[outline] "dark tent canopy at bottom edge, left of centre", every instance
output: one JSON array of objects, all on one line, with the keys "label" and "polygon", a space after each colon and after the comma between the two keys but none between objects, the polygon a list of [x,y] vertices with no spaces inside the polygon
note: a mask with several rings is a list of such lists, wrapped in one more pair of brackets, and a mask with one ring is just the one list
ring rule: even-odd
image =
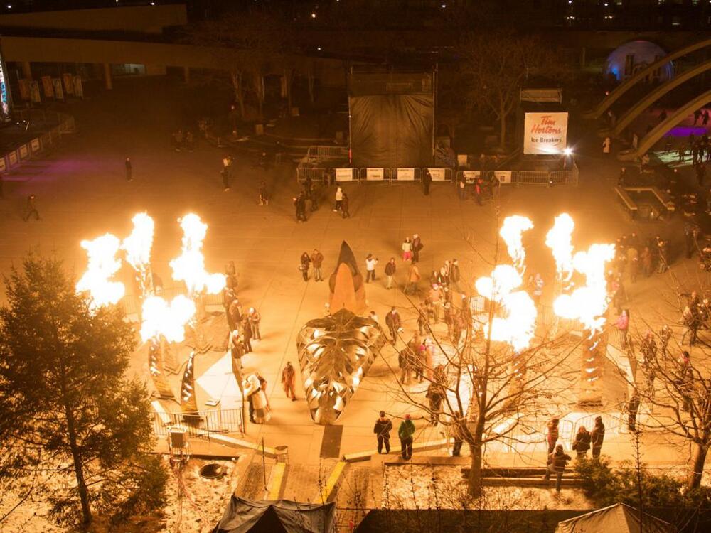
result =
[{"label": "dark tent canopy at bottom edge, left of centre", "polygon": [[331,533],[336,504],[311,505],[289,500],[245,500],[232,496],[213,533]]}]

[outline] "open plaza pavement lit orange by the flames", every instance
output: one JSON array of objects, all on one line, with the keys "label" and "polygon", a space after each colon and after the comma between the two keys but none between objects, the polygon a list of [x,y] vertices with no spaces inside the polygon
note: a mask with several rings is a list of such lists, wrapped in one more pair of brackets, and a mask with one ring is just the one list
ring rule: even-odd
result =
[{"label": "open plaza pavement lit orange by the flames", "polygon": [[[343,220],[332,212],[335,189],[330,188],[323,191],[321,208],[309,215],[309,221],[296,223],[293,166],[286,163],[267,173],[236,156],[232,189],[224,192],[219,177],[223,150],[202,143],[191,154],[171,151],[169,134],[179,124],[174,112],[178,106],[170,84],[156,80],[117,82],[114,92],[74,104],[70,112],[77,118],[79,133],[68,137],[63,149],[49,158],[33,161],[6,177],[6,198],[0,200],[0,273],[7,274],[29,249],[37,249],[43,254],[56,254],[80,274],[86,264],[81,239],[105,232],[124,237],[131,229],[132,215],[146,210],[156,221],[154,270],[170,286],[168,262],[180,253],[181,244],[176,219],[196,212],[209,225],[203,248],[208,270],[223,271],[225,263],[234,260],[240,301],[245,308],[254,306],[262,314],[263,340],[255,343],[255,352],[245,357],[245,367],[247,371],[258,370],[267,379],[272,419],[264,425],[248,424],[247,438],[254,442],[264,438],[267,446],[288,445],[289,460],[296,465],[315,468],[322,463],[324,427],[311,422],[299,378],[296,391],[300,399],[290,402],[284,397],[279,376],[287,360],[297,365],[296,334],[306,321],[324,315],[328,300],[327,282],[304,283],[301,279],[301,252],[321,250],[326,258],[325,274],[334,268],[343,239],[351,244],[363,267],[366,254],[373,253],[380,265],[378,280],[366,286],[368,306],[381,320],[390,306],[400,308],[405,330],[410,333],[416,327],[415,316],[403,311],[407,300],[402,291],[385,289],[382,273],[387,259],[395,257],[396,279],[400,286],[403,284],[406,265],[399,259],[400,244],[413,233],[419,233],[424,243],[420,263],[423,286],[429,271],[445,259],[456,257],[464,283],[471,287],[476,277],[491,270],[497,220],[514,213],[529,216],[535,228],[524,239],[528,269],[540,271],[547,281],[546,300],[550,298],[555,266],[543,243],[558,213],[569,212],[574,218],[574,244],[579,248],[587,248],[592,242],[614,242],[622,233],[631,231],[643,236],[680,235],[683,224],[678,219],[670,224],[630,222],[611,194],[619,173],[618,163],[601,157],[594,137],[584,139],[577,148],[577,188],[504,187],[496,205],[486,203],[479,207],[473,200],[460,202],[454,188],[444,183],[434,184],[429,196],[424,196],[415,183],[346,185],[351,198],[350,219]],[[134,168],[130,183],[124,179],[126,156],[132,158]],[[257,205],[257,185],[262,178],[267,180],[272,195],[269,206]],[[39,222],[23,222],[21,218],[30,193],[37,195],[42,217]],[[677,252],[679,240],[676,239]],[[696,271],[692,260],[677,259],[675,272],[683,279],[693,279]],[[120,274],[119,279],[129,289],[129,267],[124,265]],[[659,300],[660,290],[667,289],[670,281],[659,276],[629,287],[633,321],[637,311],[650,320],[657,311],[670,313]],[[4,295],[0,296],[4,299]],[[224,328],[226,333],[226,325]],[[198,356],[196,375],[207,371],[222,355],[209,352]],[[395,365],[394,352],[387,352],[385,358]],[[145,351],[139,350],[132,360],[132,372],[147,379],[147,370]],[[392,379],[385,360],[378,360],[371,367],[339,421],[343,425],[341,454],[373,448],[373,421],[380,409],[395,417],[413,411],[388,392]],[[177,387],[175,383],[173,386]],[[201,408],[210,395],[198,387]],[[418,424],[418,441],[440,437],[439,429]],[[670,463],[668,451],[672,448],[667,446],[665,437],[644,438],[646,462]],[[396,434],[392,441],[397,448]],[[616,459],[631,458],[629,436],[610,432],[605,451]],[[513,465],[540,464],[544,456],[542,446],[525,455],[491,446],[486,458],[492,464]],[[680,454],[673,456],[671,462],[684,461]],[[310,500],[312,496],[307,494],[301,499]]]}]

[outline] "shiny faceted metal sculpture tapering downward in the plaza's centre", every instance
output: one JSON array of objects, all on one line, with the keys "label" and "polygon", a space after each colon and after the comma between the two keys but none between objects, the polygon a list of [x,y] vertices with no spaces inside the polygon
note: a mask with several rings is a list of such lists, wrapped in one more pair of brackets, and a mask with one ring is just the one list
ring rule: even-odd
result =
[{"label": "shiny faceted metal sculpture tapering downward in the plaza's centre", "polygon": [[333,424],[385,344],[378,323],[341,309],[301,328],[296,339],[306,402],[316,424]]}]

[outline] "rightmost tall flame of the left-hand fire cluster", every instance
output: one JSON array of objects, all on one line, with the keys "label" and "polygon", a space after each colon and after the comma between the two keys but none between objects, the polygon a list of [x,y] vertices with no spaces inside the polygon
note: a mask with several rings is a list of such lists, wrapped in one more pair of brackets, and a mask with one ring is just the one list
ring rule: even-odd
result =
[{"label": "rightmost tall flame of the left-hand fire cluster", "polygon": [[205,271],[205,257],[201,249],[208,225],[198,215],[190,213],[178,219],[183,228],[183,253],[170,262],[173,279],[185,281],[188,294],[194,295],[203,290],[208,294],[217,294],[226,283],[224,274],[208,274]]}]

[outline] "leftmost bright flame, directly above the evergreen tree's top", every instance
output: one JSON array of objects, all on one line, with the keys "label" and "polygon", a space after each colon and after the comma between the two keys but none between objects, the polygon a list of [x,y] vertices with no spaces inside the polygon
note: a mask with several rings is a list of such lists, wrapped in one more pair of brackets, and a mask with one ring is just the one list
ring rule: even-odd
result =
[{"label": "leftmost bright flame, directly above the evergreen tree's top", "polygon": [[120,244],[118,237],[110,233],[81,242],[82,248],[89,256],[89,264],[87,271],[77,282],[77,292],[90,292],[92,308],[118,303],[124,296],[124,284],[109,281],[121,268],[121,260],[116,259]]}]

